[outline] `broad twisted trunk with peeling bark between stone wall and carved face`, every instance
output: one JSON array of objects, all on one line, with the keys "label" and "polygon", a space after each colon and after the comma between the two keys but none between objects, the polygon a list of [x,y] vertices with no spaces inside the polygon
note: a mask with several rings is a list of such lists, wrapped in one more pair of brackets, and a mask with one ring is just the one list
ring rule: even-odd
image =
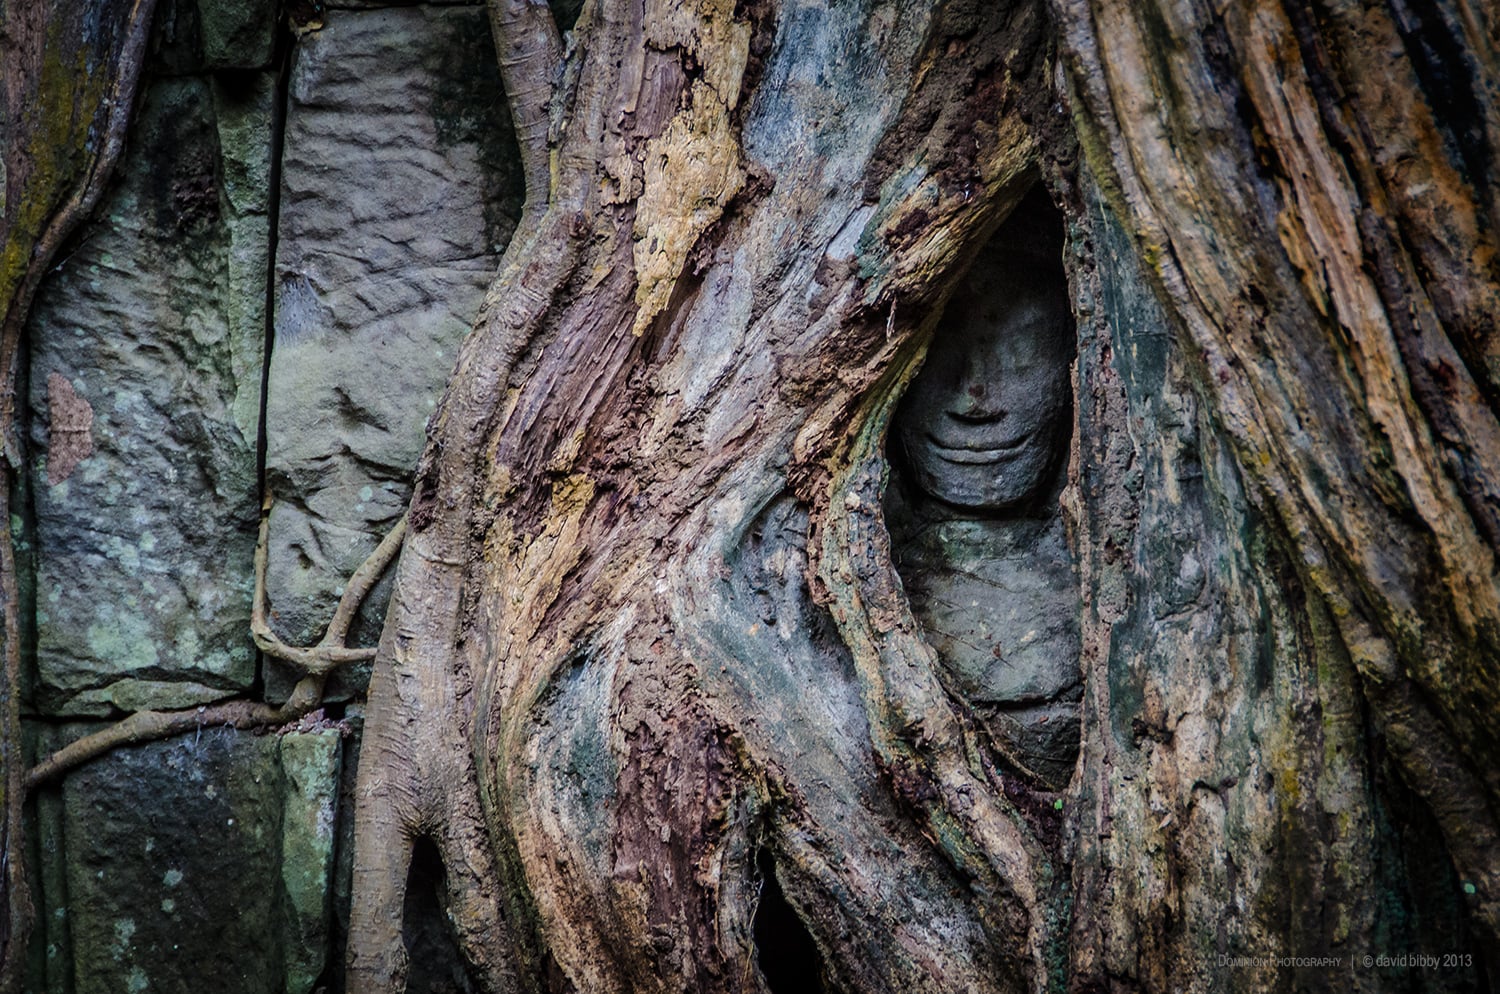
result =
[{"label": "broad twisted trunk with peeling bark between stone wall and carved face", "polygon": [[[362,759],[358,990],[402,990],[418,837],[486,990],[543,987],[548,961],[591,991],[759,987],[759,852],[843,987],[1040,982],[1042,847],[1002,786],[942,751],[962,748],[951,700],[892,700],[910,688],[855,645],[861,676],[826,676],[870,708],[879,762],[855,741],[850,787],[822,775],[846,747],[778,754],[724,676],[774,664],[724,631],[741,625],[724,555],[778,498],[832,535],[808,571],[866,541],[834,531],[848,474],[867,472],[946,286],[1035,177],[1017,79],[1046,93],[1041,15],[981,6],[780,28],[770,6],[585,9],[548,210],[507,250],[417,474]],[[849,94],[764,84],[776,43],[846,46],[900,96],[872,91],[826,130]],[[758,85],[783,103],[754,108]],[[566,729],[603,762],[570,760]],[[837,861],[838,820],[909,853],[906,898]],[[954,889],[970,874],[986,901]]]}]

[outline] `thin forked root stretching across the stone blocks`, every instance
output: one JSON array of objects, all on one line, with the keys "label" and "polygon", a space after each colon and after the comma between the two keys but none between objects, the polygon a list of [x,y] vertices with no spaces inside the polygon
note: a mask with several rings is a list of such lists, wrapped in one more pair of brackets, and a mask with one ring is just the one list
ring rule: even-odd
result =
[{"label": "thin forked root stretching across the stone blocks", "polygon": [[322,703],[328,673],[346,663],[375,658],[375,649],[351,649],[344,643],[354,624],[354,613],[400,550],[406,535],[405,514],[381,540],[375,552],[350,576],[344,586],[344,595],[333,612],[333,619],[318,645],[290,646],[272,631],[266,621],[266,544],[270,531],[270,508],[272,493],[267,490],[266,501],[261,504],[260,538],[255,543],[255,600],[250,607],[250,634],[261,652],[285,660],[302,670],[302,678],[286,702],[279,708],[258,700],[226,700],[183,711],[138,711],[108,729],[86,735],[60,748],[28,769],[26,774],[27,790],[62,777],[122,745],[141,745],[206,727],[264,729],[296,721]]}]

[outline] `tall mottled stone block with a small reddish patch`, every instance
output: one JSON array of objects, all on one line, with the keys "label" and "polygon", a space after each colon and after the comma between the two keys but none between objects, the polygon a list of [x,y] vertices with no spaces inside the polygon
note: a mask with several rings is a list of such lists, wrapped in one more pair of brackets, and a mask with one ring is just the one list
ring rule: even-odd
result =
[{"label": "tall mottled stone block with a small reddish patch", "polygon": [[[244,690],[273,85],[154,84],[30,324],[48,714]],[[148,693],[152,688],[164,693]]]}]

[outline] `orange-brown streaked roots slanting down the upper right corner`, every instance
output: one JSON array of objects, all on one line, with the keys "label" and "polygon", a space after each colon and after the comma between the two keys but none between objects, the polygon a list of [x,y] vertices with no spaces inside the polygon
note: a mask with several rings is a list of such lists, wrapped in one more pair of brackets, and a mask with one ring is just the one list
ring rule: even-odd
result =
[{"label": "orange-brown streaked roots slanting down the upper right corner", "polygon": [[1058,6],[1089,162],[1494,936],[1494,12]]}]

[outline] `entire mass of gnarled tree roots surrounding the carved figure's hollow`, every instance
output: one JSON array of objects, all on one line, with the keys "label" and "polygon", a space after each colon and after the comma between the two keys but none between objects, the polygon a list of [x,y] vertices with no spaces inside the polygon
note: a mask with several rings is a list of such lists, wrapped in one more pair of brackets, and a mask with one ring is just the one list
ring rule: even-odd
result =
[{"label": "entire mass of gnarled tree roots surrounding the carved figure's hollow", "polygon": [[[422,838],[486,990],[788,990],[798,930],[838,991],[1287,984],[1226,955],[1384,990],[1347,964],[1492,942],[1488,30],[588,4],[418,469],[356,988],[402,990]],[[891,411],[1038,175],[1078,316],[1065,795],[954,693],[882,511]]]}]

